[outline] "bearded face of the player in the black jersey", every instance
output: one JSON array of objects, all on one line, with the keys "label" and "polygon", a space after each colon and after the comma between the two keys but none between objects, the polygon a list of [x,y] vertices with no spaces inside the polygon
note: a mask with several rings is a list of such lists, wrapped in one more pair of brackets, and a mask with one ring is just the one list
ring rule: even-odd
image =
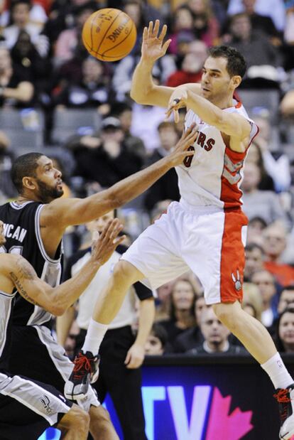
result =
[{"label": "bearded face of the player in the black jersey", "polygon": [[63,194],[61,172],[53,167],[53,162],[47,156],[38,159],[36,185],[38,196],[43,203],[50,203]]}]

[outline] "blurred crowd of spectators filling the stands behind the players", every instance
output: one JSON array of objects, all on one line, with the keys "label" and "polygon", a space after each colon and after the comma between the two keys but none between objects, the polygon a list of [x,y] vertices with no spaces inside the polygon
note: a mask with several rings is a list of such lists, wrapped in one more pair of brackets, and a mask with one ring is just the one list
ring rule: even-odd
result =
[{"label": "blurred crowd of spectators filling the stands behind the players", "polygon": [[[82,44],[83,24],[104,7],[126,11],[138,31],[132,52],[116,63],[92,58]],[[244,281],[244,309],[269,329],[282,353],[294,353],[294,1],[6,0],[0,1],[0,14],[0,124],[1,114],[14,110],[24,131],[42,130],[41,151],[62,168],[67,197],[113,185],[168,154],[180,138],[184,113],[175,124],[165,120],[165,109],[136,104],[129,96],[141,34],[150,19],[167,23],[172,38],[153,70],[158,84],[199,82],[212,45],[232,45],[245,56],[248,70],[236,99],[258,90],[255,100],[251,95],[249,115],[260,132],[249,149],[241,186],[249,218],[244,280],[234,281]],[[261,93],[273,101],[264,104]],[[56,114],[70,117],[70,111],[94,113],[97,122],[77,125],[60,141]],[[9,179],[13,158],[34,146],[24,151],[21,136],[12,139],[5,124],[0,129],[4,203],[16,195]],[[119,210],[126,245],[179,198],[177,176],[170,170]],[[65,257],[85,244],[85,235],[84,227],[67,232]],[[247,355],[205,306],[200,281],[192,274],[153,294],[156,320],[147,355]],[[78,332],[75,322],[66,343],[70,355]]]}]

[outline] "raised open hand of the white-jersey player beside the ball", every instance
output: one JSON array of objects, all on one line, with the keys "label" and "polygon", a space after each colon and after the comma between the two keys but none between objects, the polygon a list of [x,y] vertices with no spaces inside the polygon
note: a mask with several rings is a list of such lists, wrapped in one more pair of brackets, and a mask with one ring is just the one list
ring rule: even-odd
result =
[{"label": "raised open hand of the white-jersey player beside the ball", "polygon": [[154,63],[158,58],[165,55],[168,50],[171,40],[167,40],[163,43],[163,38],[165,38],[168,27],[166,24],[163,25],[163,28],[159,33],[159,26],[159,20],[156,20],[154,25],[153,21],[149,21],[148,28],[145,27],[143,30],[142,60],[144,61],[152,61]]}]

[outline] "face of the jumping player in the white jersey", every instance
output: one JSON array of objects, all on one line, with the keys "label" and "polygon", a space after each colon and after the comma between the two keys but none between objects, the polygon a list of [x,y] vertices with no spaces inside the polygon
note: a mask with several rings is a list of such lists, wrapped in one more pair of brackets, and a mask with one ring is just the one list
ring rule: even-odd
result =
[{"label": "face of the jumping player in the white jersey", "polygon": [[214,102],[222,100],[232,90],[234,90],[234,81],[227,72],[227,59],[208,57],[202,68],[202,96]]}]

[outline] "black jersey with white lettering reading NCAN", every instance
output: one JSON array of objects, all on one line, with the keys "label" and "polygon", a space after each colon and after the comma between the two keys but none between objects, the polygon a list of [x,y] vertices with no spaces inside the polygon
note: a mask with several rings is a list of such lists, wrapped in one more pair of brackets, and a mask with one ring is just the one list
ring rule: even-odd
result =
[{"label": "black jersey with white lettering reading NCAN", "polygon": [[[48,257],[40,235],[40,211],[43,204],[15,202],[0,206],[0,220],[4,222],[6,243],[0,252],[21,254],[31,263],[40,279],[55,287],[60,283],[62,244],[58,246],[55,259]],[[34,326],[48,323],[51,314],[39,306],[34,306],[21,295],[16,295],[13,308],[13,324]]]}]

